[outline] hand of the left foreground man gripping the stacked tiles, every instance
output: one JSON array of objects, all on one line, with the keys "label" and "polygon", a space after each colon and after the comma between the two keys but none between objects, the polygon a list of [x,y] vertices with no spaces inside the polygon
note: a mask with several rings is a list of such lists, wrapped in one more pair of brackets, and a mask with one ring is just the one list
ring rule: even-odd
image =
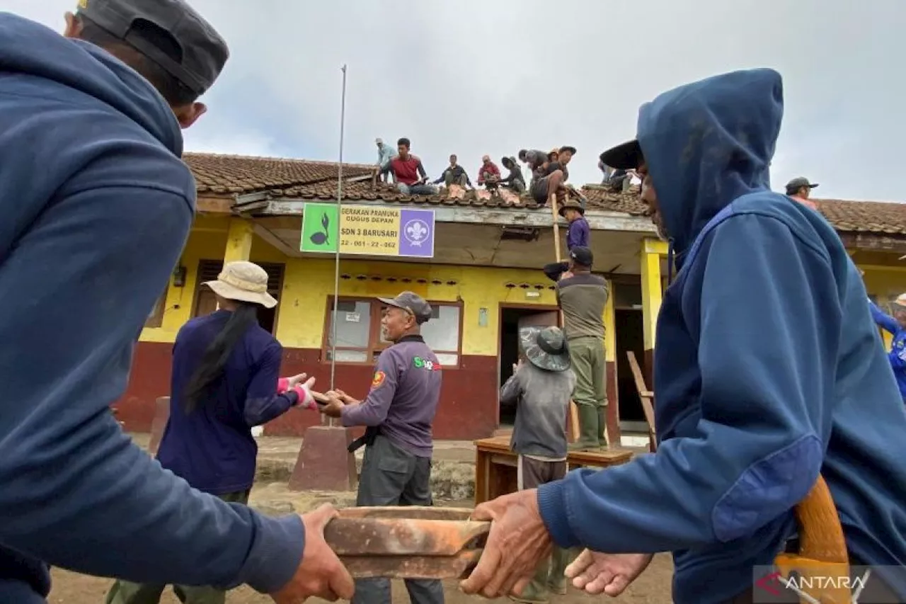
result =
[{"label": "hand of the left foreground man gripping the stacked tiles", "polygon": [[305,525],[305,550],[293,579],[271,594],[276,604],[302,604],[305,599],[352,599],[355,583],[333,550],[324,541],[324,527],[337,516],[333,505],[325,503],[315,511],[302,514]]}]

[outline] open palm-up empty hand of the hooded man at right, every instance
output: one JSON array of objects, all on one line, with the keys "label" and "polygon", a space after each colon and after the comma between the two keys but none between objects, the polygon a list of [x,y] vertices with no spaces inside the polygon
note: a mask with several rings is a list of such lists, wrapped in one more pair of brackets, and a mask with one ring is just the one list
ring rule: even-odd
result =
[{"label": "open palm-up empty hand of the hooded man at right", "polygon": [[565,574],[573,580],[575,589],[584,589],[593,596],[605,593],[615,597],[648,568],[651,558],[651,554],[605,554],[583,550],[566,567]]}]

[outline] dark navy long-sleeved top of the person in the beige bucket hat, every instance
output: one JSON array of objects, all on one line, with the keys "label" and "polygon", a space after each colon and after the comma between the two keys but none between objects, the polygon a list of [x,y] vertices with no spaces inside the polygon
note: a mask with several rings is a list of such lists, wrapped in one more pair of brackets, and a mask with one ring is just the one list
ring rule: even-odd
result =
[{"label": "dark navy long-sleeved top of the person in the beige bucket hat", "polygon": [[266,424],[299,400],[277,395],[283,346],[261,327],[249,327],[226,359],[224,375],[205,403],[187,414],[186,389],[230,313],[218,310],[179,329],[173,345],[170,414],[158,461],[199,491],[214,495],[252,488],[258,443],[252,426]]}]

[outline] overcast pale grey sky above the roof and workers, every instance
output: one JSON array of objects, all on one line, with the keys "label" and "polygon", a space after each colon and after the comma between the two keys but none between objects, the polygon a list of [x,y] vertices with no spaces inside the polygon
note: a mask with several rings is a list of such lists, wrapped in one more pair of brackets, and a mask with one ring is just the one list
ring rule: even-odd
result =
[{"label": "overcast pale grey sky above the roof and workers", "polygon": [[[0,0],[62,31],[75,0]],[[748,67],[785,80],[773,185],[816,197],[906,200],[906,1],[190,0],[232,57],[187,132],[190,151],[335,160],[343,63],[346,161],[409,137],[433,177],[455,152],[571,144],[575,184],[635,132],[641,102]]]}]

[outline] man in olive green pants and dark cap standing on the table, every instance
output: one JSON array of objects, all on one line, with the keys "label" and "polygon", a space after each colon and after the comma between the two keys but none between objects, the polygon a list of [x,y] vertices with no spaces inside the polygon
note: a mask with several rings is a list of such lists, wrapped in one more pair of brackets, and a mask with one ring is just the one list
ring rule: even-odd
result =
[{"label": "man in olive green pants and dark cap standing on the table", "polygon": [[564,331],[576,377],[573,401],[579,410],[579,441],[573,449],[606,443],[607,394],[604,362],[604,307],[607,281],[592,274],[592,250],[575,247],[569,269],[557,281],[557,302],[564,313]]}]

